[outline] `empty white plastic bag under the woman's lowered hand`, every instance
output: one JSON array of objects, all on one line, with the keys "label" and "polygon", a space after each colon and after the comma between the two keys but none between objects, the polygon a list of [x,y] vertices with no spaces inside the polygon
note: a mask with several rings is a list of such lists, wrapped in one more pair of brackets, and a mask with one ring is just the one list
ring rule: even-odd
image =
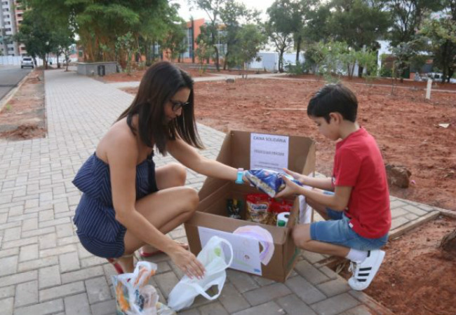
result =
[{"label": "empty white plastic bag under the woman's lowered hand", "polygon": [[[231,253],[229,262],[225,261],[222,244],[227,244]],[[206,273],[203,279],[194,277],[190,279],[187,275],[180,279],[179,283],[171,290],[168,297],[168,307],[179,311],[193,304],[195,297],[203,295],[208,300],[215,300],[222,292],[225,280],[227,279],[227,269],[233,261],[233,248],[226,239],[214,236],[203,247],[196,257],[203,264]],[[212,286],[217,286],[217,294],[210,296],[206,293]]]}]

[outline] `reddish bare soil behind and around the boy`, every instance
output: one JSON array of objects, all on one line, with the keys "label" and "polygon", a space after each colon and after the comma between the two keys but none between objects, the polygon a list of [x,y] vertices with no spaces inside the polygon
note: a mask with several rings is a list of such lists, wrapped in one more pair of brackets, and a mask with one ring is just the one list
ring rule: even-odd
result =
[{"label": "reddish bare soil behind and around the boy", "polygon": [[[306,112],[312,94],[323,84],[314,76],[199,82],[195,116],[199,123],[222,132],[311,137],[316,141],[316,170],[330,176],[335,144],[318,134]],[[413,185],[392,186],[391,195],[456,211],[456,85],[434,84],[431,100],[426,100],[425,83],[396,82],[393,89],[391,80],[366,85],[354,78],[344,84],[356,92],[358,122],[377,139],[384,162],[412,172]],[[439,127],[441,123],[450,125]],[[438,248],[454,228],[454,220],[439,218],[391,241],[380,273],[366,293],[396,314],[456,314],[455,257]]]}]

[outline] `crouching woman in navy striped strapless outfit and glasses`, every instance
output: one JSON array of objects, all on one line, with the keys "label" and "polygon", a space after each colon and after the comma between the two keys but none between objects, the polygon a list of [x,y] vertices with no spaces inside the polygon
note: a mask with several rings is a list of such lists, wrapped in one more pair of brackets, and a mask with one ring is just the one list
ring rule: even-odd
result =
[{"label": "crouching woman in navy striped strapless outfit and glasses", "polygon": [[74,216],[81,244],[108,258],[119,273],[133,272],[133,253],[163,251],[189,277],[204,267],[166,233],[187,221],[199,202],[185,187],[186,169],[155,168],[154,147],[200,174],[234,181],[238,171],[199,155],[190,76],[169,62],[151,66],[133,103],[100,140],[73,181],[83,195]]}]

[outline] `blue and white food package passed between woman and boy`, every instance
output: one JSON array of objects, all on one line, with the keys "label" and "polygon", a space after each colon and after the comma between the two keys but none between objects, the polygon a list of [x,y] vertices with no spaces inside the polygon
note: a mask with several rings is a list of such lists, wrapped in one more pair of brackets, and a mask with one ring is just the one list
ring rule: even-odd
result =
[{"label": "blue and white food package passed between woman and boy", "polygon": [[269,197],[274,197],[286,187],[286,183],[281,176],[287,176],[293,182],[302,186],[302,183],[293,179],[293,176],[271,171],[269,169],[250,169],[244,172],[244,176],[246,176],[253,186],[269,195]]}]

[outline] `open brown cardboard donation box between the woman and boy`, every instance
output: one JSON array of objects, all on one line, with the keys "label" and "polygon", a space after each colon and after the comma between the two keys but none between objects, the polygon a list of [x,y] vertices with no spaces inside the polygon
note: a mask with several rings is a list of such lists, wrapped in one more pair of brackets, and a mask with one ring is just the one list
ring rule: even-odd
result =
[{"label": "open brown cardboard donation box between the woman and boy", "polygon": [[[250,132],[231,131],[227,133],[217,161],[235,168],[250,169]],[[289,136],[288,169],[300,174],[310,174],[315,169],[315,144],[307,137]],[[192,218],[185,223],[185,232],[190,250],[195,255],[201,251],[198,227],[224,232],[233,232],[244,225],[260,225],[268,230],[274,239],[274,255],[267,265],[262,265],[262,276],[274,281],[285,282],[292,271],[299,248],[293,243],[291,228],[298,212],[295,198],[286,228],[243,221],[227,216],[227,199],[243,200],[243,213],[246,208],[246,195],[260,193],[248,185],[237,185],[232,181],[208,178],[199,191],[199,206]],[[260,249],[260,248],[259,248]]]}]

